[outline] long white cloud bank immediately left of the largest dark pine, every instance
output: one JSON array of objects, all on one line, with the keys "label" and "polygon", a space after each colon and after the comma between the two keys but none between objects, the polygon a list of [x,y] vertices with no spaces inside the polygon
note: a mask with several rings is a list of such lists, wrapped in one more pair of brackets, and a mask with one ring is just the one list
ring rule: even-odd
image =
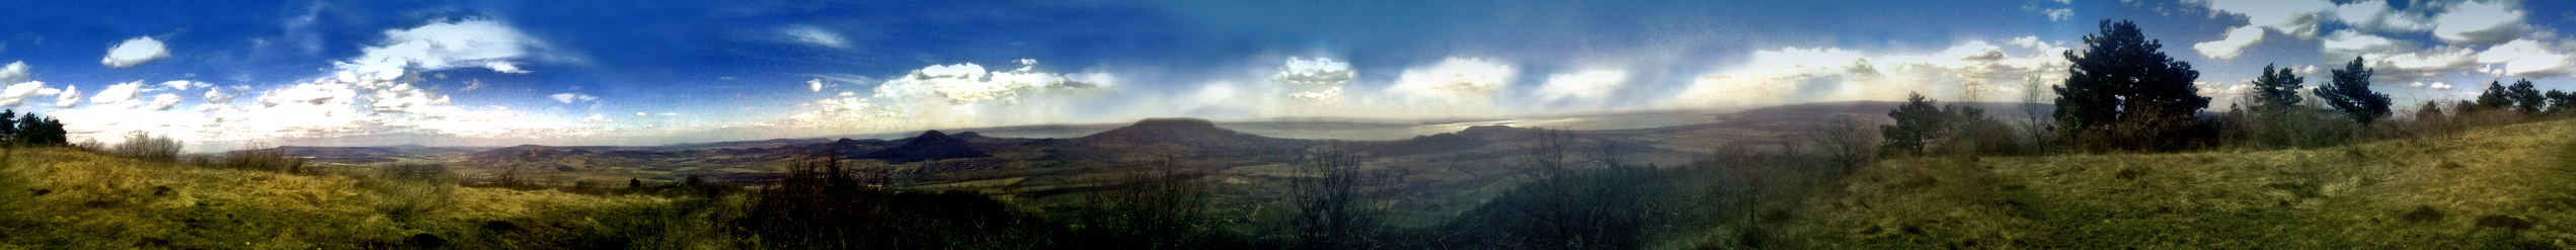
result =
[{"label": "long white cloud bank immediately left of the largest dark pine", "polygon": [[[1945,101],[2014,95],[2030,75],[2063,77],[2066,46],[2009,39],[2012,46],[1965,41],[1932,54],[1868,54],[1852,49],[1759,49],[1749,62],[1695,77],[1667,103],[1682,108],[1754,108],[1801,101],[1901,101],[1924,93]],[[1955,95],[1953,95],[1955,93]]]}]

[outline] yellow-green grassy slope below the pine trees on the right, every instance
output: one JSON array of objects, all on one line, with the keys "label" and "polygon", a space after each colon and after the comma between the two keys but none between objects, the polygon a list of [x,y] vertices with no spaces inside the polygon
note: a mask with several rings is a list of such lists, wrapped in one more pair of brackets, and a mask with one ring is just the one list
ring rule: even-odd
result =
[{"label": "yellow-green grassy slope below the pine trees on the right", "polygon": [[1726,237],[1844,250],[2563,250],[2576,245],[2576,121],[2318,149],[1886,160],[1775,211],[1765,229]]}]

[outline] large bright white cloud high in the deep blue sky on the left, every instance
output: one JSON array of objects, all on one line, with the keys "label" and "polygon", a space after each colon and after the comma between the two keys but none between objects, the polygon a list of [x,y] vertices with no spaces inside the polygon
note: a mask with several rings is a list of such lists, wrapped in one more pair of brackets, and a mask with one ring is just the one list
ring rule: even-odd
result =
[{"label": "large bright white cloud high in the deep blue sky on the left", "polygon": [[451,21],[420,28],[384,31],[381,46],[366,46],[361,57],[332,62],[355,75],[402,75],[402,70],[487,67],[495,72],[526,72],[510,59],[544,46],[500,21]]}]

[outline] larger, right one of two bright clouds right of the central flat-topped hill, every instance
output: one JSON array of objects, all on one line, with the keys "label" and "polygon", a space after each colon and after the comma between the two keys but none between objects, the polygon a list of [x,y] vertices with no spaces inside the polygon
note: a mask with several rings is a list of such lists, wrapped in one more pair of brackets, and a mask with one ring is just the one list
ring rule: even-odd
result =
[{"label": "larger, right one of two bright clouds right of the central flat-topped hill", "polygon": [[1435,101],[1489,101],[1497,90],[1512,85],[1512,77],[1517,77],[1517,70],[1510,62],[1448,57],[1430,67],[1404,70],[1386,93]]}]

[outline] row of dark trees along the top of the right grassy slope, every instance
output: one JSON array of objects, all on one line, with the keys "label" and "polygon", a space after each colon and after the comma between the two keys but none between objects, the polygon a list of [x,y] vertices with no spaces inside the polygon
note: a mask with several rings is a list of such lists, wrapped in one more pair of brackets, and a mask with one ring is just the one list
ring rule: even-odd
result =
[{"label": "row of dark trees along the top of the right grassy slope", "polygon": [[[2053,85],[2053,111],[2025,106],[2030,119],[2002,121],[1973,106],[1940,106],[1911,95],[1896,124],[1880,126],[1880,155],[2056,155],[2056,152],[2190,152],[2334,147],[2370,139],[2434,137],[2468,126],[2563,119],[2576,95],[2535,90],[2530,80],[2488,82],[2476,101],[2427,101],[2396,116],[2388,93],[2370,90],[2375,70],[2354,57],[2316,88],[2287,67],[2264,64],[2226,113],[2205,113],[2190,62],[2166,57],[2136,23],[2102,21],[2066,52],[2069,77]],[[2040,80],[2032,80],[2038,88]],[[2038,101],[2027,93],[2025,101]]]}]

